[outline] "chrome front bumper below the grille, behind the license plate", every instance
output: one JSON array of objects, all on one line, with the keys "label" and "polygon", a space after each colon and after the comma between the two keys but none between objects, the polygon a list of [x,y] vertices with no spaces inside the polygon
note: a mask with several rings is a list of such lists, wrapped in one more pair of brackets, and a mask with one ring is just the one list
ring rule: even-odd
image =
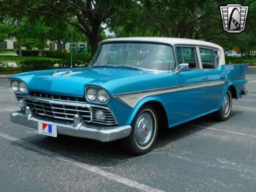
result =
[{"label": "chrome front bumper below the grille, behind the license plate", "polygon": [[11,113],[10,119],[15,124],[24,125],[38,129],[38,122],[44,121],[57,125],[58,134],[89,138],[102,142],[119,140],[129,136],[131,132],[130,125],[103,127],[100,125],[90,125],[86,123],[74,125],[72,122],[56,122],[47,118],[35,115],[26,115],[24,111],[15,111]]}]

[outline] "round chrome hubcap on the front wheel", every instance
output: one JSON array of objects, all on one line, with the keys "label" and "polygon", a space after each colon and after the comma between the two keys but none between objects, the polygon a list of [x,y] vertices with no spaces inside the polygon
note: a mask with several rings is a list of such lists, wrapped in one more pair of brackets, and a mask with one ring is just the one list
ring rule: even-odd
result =
[{"label": "round chrome hubcap on the front wheel", "polygon": [[139,145],[145,145],[154,131],[154,120],[148,112],[143,112],[135,124],[135,138]]}]

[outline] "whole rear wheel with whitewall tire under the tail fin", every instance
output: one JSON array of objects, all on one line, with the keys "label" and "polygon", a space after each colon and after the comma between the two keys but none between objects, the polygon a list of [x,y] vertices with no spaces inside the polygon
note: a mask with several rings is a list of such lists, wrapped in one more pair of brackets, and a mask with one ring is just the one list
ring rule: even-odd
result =
[{"label": "whole rear wheel with whitewall tire under the tail fin", "polygon": [[232,109],[232,94],[228,90],[225,94],[221,108],[214,113],[217,120],[225,121],[230,117],[230,112]]}]

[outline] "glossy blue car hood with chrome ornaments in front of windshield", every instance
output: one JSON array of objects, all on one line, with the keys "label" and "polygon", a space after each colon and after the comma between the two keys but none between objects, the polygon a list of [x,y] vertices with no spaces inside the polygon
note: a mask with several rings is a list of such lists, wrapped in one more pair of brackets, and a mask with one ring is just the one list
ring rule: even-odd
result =
[{"label": "glossy blue car hood with chrome ornaments in front of windshield", "polygon": [[87,84],[102,86],[111,92],[122,82],[152,73],[121,67],[74,68],[69,74],[65,73],[68,70],[70,69],[61,69],[57,74],[54,74],[56,70],[26,72],[16,74],[11,79],[21,79],[28,84],[29,91],[33,92],[84,97],[84,86]]}]

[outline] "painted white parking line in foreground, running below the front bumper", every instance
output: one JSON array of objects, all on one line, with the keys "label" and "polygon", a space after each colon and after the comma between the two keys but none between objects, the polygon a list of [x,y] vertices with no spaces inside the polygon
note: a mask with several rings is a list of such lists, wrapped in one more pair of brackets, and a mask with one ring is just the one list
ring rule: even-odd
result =
[{"label": "painted white parking line in foreground, running below the front bumper", "polygon": [[139,189],[141,191],[157,191],[157,192],[161,191],[159,189],[151,188],[150,186],[140,184],[139,182],[136,182],[134,180],[126,179],[124,177],[120,177],[120,176],[115,175],[113,173],[106,172],[106,171],[98,168],[97,166],[77,162],[74,159],[71,159],[71,158],[65,157],[65,156],[61,156],[60,154],[56,154],[55,152],[51,152],[50,150],[47,150],[45,148],[40,148],[37,145],[28,143],[24,140],[20,140],[19,138],[14,138],[14,137],[12,137],[10,135],[7,135],[7,134],[4,134],[2,132],[0,132],[0,136],[2,138],[7,139],[7,140],[13,141],[15,143],[19,143],[20,145],[23,145],[24,147],[31,148],[31,149],[35,150],[36,152],[41,152],[42,154],[46,154],[48,156],[54,157],[54,158],[56,158],[60,161],[64,161],[66,163],[74,164],[74,165],[76,165],[80,168],[83,168],[84,170],[95,173],[97,175],[101,175],[101,176],[106,177],[106,178],[111,179],[111,180],[115,180],[116,182],[119,182],[119,183],[124,184],[126,186],[136,188],[136,189]]}]

